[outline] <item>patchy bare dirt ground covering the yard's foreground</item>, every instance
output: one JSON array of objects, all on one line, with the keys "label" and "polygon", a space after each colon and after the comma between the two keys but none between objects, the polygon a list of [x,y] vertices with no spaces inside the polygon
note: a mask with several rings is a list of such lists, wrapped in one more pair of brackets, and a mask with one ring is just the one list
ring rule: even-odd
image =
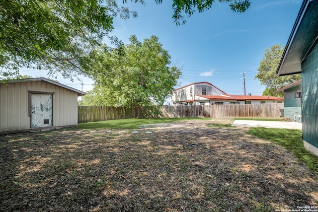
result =
[{"label": "patchy bare dirt ground covering the yard's foreground", "polygon": [[317,210],[290,151],[216,122],[0,136],[0,211]]}]

